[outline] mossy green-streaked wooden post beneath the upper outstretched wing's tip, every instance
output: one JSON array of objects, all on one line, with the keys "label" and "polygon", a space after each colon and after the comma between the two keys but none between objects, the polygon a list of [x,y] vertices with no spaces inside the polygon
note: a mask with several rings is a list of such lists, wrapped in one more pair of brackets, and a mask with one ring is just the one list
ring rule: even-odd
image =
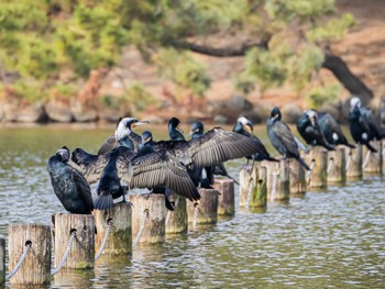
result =
[{"label": "mossy green-streaked wooden post beneath the upper outstretched wing's tip", "polygon": [[240,171],[240,207],[249,210],[265,209],[267,205],[266,167],[242,167]]}]

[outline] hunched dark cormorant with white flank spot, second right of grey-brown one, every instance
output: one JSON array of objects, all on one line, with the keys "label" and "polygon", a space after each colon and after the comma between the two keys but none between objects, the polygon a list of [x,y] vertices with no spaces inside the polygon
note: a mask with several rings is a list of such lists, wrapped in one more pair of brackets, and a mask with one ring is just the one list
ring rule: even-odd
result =
[{"label": "hunched dark cormorant with white flank spot, second right of grey-brown one", "polygon": [[354,148],[355,145],[350,144],[342,133],[342,130],[336,119],[331,116],[328,112],[322,112],[318,114],[318,123],[321,129],[324,137],[327,138],[329,144],[332,145],[345,145],[351,148]]}]

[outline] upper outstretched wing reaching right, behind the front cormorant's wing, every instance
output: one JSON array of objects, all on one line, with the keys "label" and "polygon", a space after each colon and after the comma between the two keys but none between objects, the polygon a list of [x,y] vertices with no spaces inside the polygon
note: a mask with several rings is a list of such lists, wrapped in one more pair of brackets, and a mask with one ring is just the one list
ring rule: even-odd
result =
[{"label": "upper outstretched wing reaching right, behind the front cormorant's wing", "polygon": [[258,148],[258,144],[251,137],[215,127],[186,144],[184,159],[190,158],[194,167],[209,167],[229,159],[250,156],[257,153]]}]

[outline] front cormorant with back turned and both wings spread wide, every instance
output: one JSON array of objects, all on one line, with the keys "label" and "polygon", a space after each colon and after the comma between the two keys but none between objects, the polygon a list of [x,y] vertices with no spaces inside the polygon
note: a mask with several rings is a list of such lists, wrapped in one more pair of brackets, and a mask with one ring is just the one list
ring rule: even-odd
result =
[{"label": "front cormorant with back turned and both wings spread wide", "polygon": [[113,204],[112,193],[120,193],[120,181],[127,182],[131,189],[165,187],[191,201],[200,198],[185,166],[168,152],[136,156],[130,148],[119,146],[97,156],[76,148],[72,160],[90,184],[100,180],[96,209],[108,209]]}]

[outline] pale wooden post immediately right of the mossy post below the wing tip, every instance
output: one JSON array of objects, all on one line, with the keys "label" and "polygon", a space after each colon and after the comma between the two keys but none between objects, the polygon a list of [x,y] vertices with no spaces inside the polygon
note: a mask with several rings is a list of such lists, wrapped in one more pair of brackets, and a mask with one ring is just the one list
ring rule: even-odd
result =
[{"label": "pale wooden post immediately right of the mossy post below the wing tip", "polygon": [[262,162],[267,175],[267,200],[284,201],[290,196],[290,166],[287,159],[276,162]]}]

